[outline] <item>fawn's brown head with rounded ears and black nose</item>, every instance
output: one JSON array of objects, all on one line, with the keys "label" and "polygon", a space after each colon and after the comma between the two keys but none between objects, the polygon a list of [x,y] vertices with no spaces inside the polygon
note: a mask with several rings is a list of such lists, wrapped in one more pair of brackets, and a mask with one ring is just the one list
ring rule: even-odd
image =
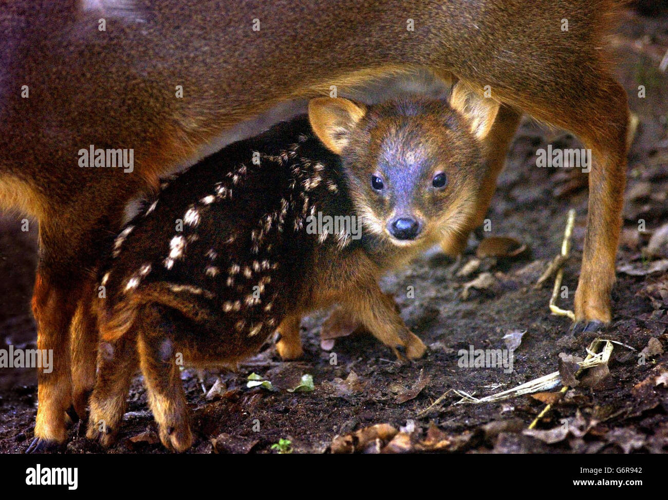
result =
[{"label": "fawn's brown head with rounded ears and black nose", "polygon": [[364,106],[316,98],[309,120],[340,154],[363,231],[399,247],[463,231],[486,176],[482,139],[498,104],[457,84],[450,104],[400,98]]}]

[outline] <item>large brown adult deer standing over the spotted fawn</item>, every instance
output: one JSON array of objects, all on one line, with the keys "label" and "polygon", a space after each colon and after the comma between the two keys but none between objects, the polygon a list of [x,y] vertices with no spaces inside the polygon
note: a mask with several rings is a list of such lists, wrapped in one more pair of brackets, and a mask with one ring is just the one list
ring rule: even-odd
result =
[{"label": "large brown adult deer standing over the spotted fawn", "polygon": [[[37,346],[54,360],[51,372],[38,373],[29,451],[65,440],[71,405],[85,413],[97,347],[92,270],[107,235],[120,231],[126,203],[242,120],[286,99],[387,74],[422,68],[458,80],[467,106],[492,119],[476,216],[462,237],[448,239],[448,251],[484,219],[522,112],[573,132],[592,150],[574,312],[580,328],[609,322],[628,106],[603,47],[620,3],[4,2],[0,206],[39,221],[33,311]],[[80,168],[77,152],[92,145],[133,150],[132,168]],[[425,230],[398,220],[395,229]]]}]

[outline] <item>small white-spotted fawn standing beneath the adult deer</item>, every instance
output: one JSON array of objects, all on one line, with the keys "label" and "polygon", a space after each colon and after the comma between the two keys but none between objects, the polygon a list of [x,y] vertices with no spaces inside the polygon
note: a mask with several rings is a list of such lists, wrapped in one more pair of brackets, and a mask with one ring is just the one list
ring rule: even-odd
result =
[{"label": "small white-spotted fawn standing beneath the adult deer", "polygon": [[475,215],[487,130],[438,101],[317,98],[165,182],[102,271],[88,436],[112,443],[139,366],[160,440],[188,449],[177,356],[234,365],[276,330],[294,356],[302,316],[333,303],[398,358],[422,356],[377,279]]}]

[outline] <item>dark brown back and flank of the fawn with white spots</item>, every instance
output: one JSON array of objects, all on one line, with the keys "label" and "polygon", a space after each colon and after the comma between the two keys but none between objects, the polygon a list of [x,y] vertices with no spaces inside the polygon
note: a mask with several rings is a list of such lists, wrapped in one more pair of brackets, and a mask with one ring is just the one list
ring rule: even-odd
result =
[{"label": "dark brown back and flank of the fawn with white spots", "polygon": [[[313,273],[315,245],[357,244],[343,231],[307,232],[307,217],[352,212],[341,160],[307,118],[224,148],[163,182],[114,241],[102,338],[132,325],[138,303],[128,297],[152,297],[192,321],[199,340],[226,336],[225,358],[243,356],[301,293],[295,278]],[[206,358],[219,359],[214,351]]]}]

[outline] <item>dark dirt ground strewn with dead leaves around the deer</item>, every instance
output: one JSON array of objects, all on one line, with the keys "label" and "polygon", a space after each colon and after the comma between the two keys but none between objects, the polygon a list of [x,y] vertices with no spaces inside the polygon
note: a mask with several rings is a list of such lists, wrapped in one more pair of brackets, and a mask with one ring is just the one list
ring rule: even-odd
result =
[{"label": "dark dirt ground strewn with dead leaves around the deer", "polygon": [[[313,316],[303,324],[305,356],[297,362],[281,362],[273,345],[267,345],[236,373],[206,372],[200,383],[194,370],[182,372],[196,435],[190,453],[275,453],[272,445],[281,439],[291,442],[285,451],[323,453],[337,434],[374,424],[390,424],[397,430],[403,427],[399,434],[403,439],[394,439],[385,447],[394,431],[375,439],[369,430],[371,439],[358,433],[347,441],[352,445],[344,443],[343,451],[349,451],[346,446],[367,452],[668,451],[668,354],[664,354],[668,349],[668,266],[661,260],[668,258],[668,240],[663,240],[663,257],[643,252],[652,233],[668,223],[668,72],[659,70],[668,49],[668,17],[641,17],[629,11],[613,44],[621,61],[618,75],[629,92],[639,126],[629,154],[614,318],[599,333],[626,346],[614,344],[607,376],[602,376],[605,369],[599,370],[589,377],[589,383],[580,382],[560,399],[558,385],[538,398],[456,404],[462,398],[452,390],[482,397],[512,388],[559,370],[560,353],[584,358],[594,338],[591,334],[570,335],[570,320],[550,315],[552,279],[534,288],[560,251],[566,213],[572,207],[576,209],[573,249],[563,282],[568,299],[559,299],[562,307],[572,307],[587,213],[586,176],[575,169],[536,168],[535,152],[547,144],[580,146],[568,134],[527,119],[512,143],[499,180],[489,213],[491,232],[484,234],[513,237],[527,245],[528,251],[516,257],[485,257],[476,267],[472,261],[477,259],[478,243],[472,239],[458,261],[433,251],[383,279],[383,287],[395,295],[407,325],[430,346],[424,359],[400,364],[389,350],[364,335],[339,338],[331,351],[325,351],[319,337],[325,315]],[[638,96],[639,85],[645,86],[645,98]],[[641,220],[645,233],[639,231]],[[31,227],[21,232],[20,227],[20,218],[5,215],[1,219],[0,348],[6,348],[3,344],[35,346],[29,297],[36,231]],[[482,280],[485,286],[471,287],[465,300],[464,285],[484,272],[490,273]],[[413,287],[413,293],[407,293],[408,287]],[[517,330],[526,330],[526,334],[514,352],[512,372],[459,366],[459,350],[505,348],[502,337]],[[639,356],[643,349],[645,355]],[[568,369],[561,368],[562,374]],[[246,387],[251,373],[271,381],[275,390]],[[289,392],[303,374],[313,376],[314,390]],[[207,399],[202,385],[208,391],[214,384],[219,390]],[[538,432],[527,432],[546,402],[554,404],[538,422]],[[0,452],[25,451],[33,436],[36,405],[35,374],[1,370]],[[546,430],[550,432],[541,432]],[[70,437],[65,453],[102,451],[79,434],[78,424],[72,426]],[[108,453],[165,453],[140,377],[132,384],[120,439]]]}]

